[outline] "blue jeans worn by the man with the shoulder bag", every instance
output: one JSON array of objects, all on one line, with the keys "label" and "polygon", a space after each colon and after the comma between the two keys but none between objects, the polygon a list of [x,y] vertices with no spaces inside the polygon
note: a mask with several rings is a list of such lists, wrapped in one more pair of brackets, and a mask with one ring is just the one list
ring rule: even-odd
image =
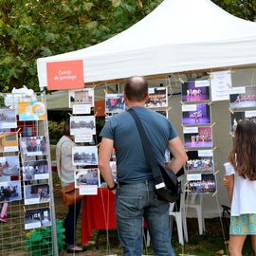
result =
[{"label": "blue jeans worn by the man with the shoulder bag", "polygon": [[157,199],[153,181],[120,184],[116,193],[119,241],[125,256],[142,255],[142,219],[156,256],[174,256],[168,202]]}]

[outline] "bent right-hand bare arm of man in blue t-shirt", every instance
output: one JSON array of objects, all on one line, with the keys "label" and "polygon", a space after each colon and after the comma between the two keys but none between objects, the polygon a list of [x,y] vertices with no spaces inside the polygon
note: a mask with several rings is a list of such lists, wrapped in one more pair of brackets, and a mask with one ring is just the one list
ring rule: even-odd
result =
[{"label": "bent right-hand bare arm of man in blue t-shirt", "polygon": [[188,160],[188,155],[186,154],[183,143],[179,137],[174,137],[173,139],[169,140],[167,146],[173,155],[173,158],[168,163],[168,166],[174,171],[174,174],[176,174]]}]

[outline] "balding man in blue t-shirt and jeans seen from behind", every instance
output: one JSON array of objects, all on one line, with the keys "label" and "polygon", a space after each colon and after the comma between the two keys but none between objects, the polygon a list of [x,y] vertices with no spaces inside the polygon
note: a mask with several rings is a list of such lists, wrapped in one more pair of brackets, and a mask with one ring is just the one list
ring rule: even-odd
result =
[{"label": "balding man in blue t-shirt and jeans seen from behind", "polygon": [[[162,115],[145,108],[148,83],[142,77],[125,82],[124,102],[133,108],[151,140],[156,159],[164,164],[165,150],[173,155],[169,167],[177,173],[187,155],[172,123]],[[170,203],[159,200],[155,192],[152,170],[147,163],[137,126],[125,111],[109,119],[101,130],[99,168],[107,187],[116,192],[116,217],[119,241],[124,256],[142,254],[142,220],[146,220],[155,255],[173,256],[169,222]],[[118,183],[110,168],[113,147],[117,153]]]}]

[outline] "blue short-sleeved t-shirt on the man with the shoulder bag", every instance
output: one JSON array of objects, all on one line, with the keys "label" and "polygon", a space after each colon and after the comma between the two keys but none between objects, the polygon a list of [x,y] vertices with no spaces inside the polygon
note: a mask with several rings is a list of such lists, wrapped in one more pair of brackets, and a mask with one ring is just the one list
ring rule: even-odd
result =
[{"label": "blue short-sleeved t-shirt on the man with the shoulder bag", "polygon": [[[163,164],[167,142],[177,136],[172,123],[159,113],[145,107],[135,106],[133,109],[151,141],[157,162]],[[109,119],[101,130],[100,136],[114,140],[119,181],[129,183],[153,178],[144,155],[136,122],[127,111]]]}]

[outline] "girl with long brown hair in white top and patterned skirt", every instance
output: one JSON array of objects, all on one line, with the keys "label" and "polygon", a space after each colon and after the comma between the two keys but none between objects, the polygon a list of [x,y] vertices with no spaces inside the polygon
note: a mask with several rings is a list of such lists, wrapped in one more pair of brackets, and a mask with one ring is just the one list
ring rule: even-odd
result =
[{"label": "girl with long brown hair in white top and patterned skirt", "polygon": [[241,256],[247,235],[256,255],[256,123],[240,121],[235,130],[224,185],[231,202],[229,255]]}]

